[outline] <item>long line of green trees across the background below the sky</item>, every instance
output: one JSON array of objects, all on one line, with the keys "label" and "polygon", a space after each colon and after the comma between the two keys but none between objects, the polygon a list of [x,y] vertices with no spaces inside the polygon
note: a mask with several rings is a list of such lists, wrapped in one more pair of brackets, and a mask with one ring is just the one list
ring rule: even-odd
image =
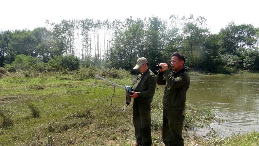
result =
[{"label": "long line of green trees across the background below the sky", "polygon": [[132,70],[139,57],[146,57],[151,70],[157,63],[170,63],[174,52],[186,57],[190,71],[231,74],[259,70],[259,29],[251,24],[228,23],[218,34],[206,27],[206,19],[192,14],[169,20],[150,16],[114,19],[46,20],[45,27],[7,30],[0,34],[0,66],[11,64],[17,55],[48,63],[59,56],[74,56],[82,66],[119,66]]}]

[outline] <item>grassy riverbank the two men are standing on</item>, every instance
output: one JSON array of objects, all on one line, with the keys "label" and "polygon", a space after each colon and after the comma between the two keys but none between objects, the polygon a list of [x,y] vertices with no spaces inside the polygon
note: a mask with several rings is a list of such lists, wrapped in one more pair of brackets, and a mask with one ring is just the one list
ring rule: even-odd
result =
[{"label": "grassy riverbank the two men are standing on", "polygon": [[[104,85],[100,79],[96,80],[94,89],[93,72],[95,70],[87,69],[1,75],[0,145],[132,145],[135,142],[133,100],[125,110],[113,110],[125,108],[125,90],[116,87],[112,97],[113,86],[107,82]],[[104,78],[111,73],[103,72],[98,74]],[[126,71],[121,74],[117,84],[132,85],[130,74]],[[116,74],[112,76],[109,79],[116,81]],[[163,92],[157,90],[151,104],[153,146],[163,145],[162,96]],[[209,126],[211,121],[222,120],[216,119],[210,109],[187,102],[183,131],[185,145],[259,144],[258,132],[230,137],[218,137],[215,131],[206,136],[196,134],[195,128]]]}]

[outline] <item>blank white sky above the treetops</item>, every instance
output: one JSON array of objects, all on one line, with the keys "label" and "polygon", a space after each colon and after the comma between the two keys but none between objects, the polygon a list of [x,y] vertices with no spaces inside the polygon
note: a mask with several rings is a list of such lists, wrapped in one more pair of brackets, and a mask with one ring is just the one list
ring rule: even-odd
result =
[{"label": "blank white sky above the treetops", "polygon": [[118,18],[122,21],[132,16],[143,19],[151,14],[167,20],[171,14],[191,13],[207,19],[207,28],[218,33],[221,28],[234,20],[237,25],[252,24],[259,27],[257,0],[1,0],[0,29],[29,29],[44,27],[45,20],[60,23],[62,19],[93,18],[94,20],[110,20]]}]

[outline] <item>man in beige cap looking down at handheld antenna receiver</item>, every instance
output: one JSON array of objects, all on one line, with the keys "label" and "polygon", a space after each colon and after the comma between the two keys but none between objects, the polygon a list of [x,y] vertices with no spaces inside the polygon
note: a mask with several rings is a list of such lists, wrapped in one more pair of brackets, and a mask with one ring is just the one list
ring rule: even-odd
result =
[{"label": "man in beige cap looking down at handheld antenna receiver", "polygon": [[151,102],[155,94],[155,74],[149,70],[148,61],[142,57],[137,60],[133,69],[140,70],[136,80],[135,90],[132,91],[133,125],[135,128],[136,143],[134,145],[151,146]]}]

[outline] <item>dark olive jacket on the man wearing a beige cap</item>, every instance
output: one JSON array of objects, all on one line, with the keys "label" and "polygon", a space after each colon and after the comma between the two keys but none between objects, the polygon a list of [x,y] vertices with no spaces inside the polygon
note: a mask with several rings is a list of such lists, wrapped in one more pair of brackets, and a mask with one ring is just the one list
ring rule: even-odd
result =
[{"label": "dark olive jacket on the man wearing a beige cap", "polygon": [[[149,70],[146,70],[147,74],[144,76],[141,85],[138,87],[138,97],[134,98],[136,102],[150,103],[153,100],[153,96],[155,94],[156,89],[156,78],[155,74]],[[136,84],[134,87],[138,86],[143,74],[139,74]]]}]

